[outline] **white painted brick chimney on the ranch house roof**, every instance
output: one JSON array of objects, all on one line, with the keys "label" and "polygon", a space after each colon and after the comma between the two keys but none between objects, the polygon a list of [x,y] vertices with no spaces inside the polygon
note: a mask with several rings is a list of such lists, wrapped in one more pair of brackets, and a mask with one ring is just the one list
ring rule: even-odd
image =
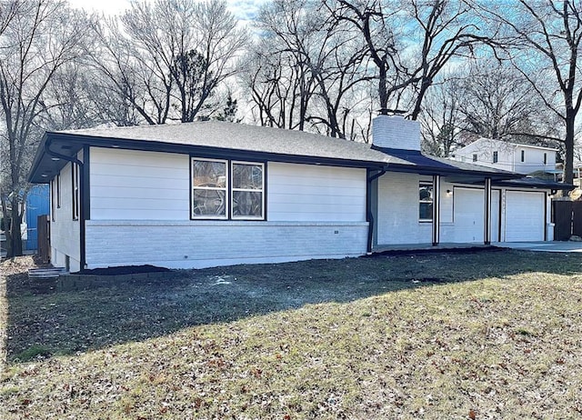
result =
[{"label": "white painted brick chimney on the ranch house roof", "polygon": [[372,120],[372,144],[420,152],[420,123],[402,115],[377,115]]}]

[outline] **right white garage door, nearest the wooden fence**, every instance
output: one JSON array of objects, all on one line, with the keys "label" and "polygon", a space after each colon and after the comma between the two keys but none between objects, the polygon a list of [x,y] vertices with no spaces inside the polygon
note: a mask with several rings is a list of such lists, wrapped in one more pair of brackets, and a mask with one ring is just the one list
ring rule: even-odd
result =
[{"label": "right white garage door, nearest the wooden fence", "polygon": [[546,227],[544,193],[507,191],[507,242],[543,241]]}]

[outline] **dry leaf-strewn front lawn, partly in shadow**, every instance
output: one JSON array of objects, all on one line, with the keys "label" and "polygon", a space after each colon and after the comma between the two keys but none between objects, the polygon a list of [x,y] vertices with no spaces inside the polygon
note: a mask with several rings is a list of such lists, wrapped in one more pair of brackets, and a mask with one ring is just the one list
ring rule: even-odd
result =
[{"label": "dry leaf-strewn front lawn, partly in shadow", "polygon": [[582,416],[571,255],[249,265],[52,295],[7,280],[5,419]]}]

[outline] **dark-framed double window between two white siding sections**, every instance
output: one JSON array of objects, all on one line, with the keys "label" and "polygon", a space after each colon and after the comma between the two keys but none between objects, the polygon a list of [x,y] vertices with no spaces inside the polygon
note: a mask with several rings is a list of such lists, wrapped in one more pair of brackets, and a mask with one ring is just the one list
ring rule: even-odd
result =
[{"label": "dark-framed double window between two white siding sections", "polygon": [[265,219],[265,165],[192,159],[192,217]]}]

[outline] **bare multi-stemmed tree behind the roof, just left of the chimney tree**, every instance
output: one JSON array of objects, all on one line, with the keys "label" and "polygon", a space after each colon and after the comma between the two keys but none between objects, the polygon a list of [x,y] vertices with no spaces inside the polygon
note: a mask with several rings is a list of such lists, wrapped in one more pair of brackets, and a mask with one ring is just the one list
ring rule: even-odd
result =
[{"label": "bare multi-stemmed tree behind the roof, just left of the chimney tree", "polygon": [[262,9],[263,39],[246,63],[244,83],[260,124],[355,138],[360,86],[373,78],[366,45],[320,6],[276,0]]}]

